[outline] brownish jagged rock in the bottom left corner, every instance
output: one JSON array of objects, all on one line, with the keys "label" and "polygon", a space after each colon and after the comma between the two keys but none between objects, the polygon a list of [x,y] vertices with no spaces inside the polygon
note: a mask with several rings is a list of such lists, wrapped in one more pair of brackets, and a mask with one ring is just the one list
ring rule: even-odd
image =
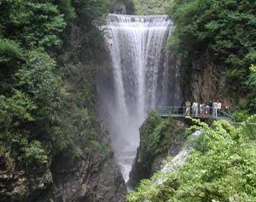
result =
[{"label": "brownish jagged rock in the bottom left corner", "polygon": [[16,171],[8,154],[0,154],[0,201],[36,201],[51,185],[49,165]]}]

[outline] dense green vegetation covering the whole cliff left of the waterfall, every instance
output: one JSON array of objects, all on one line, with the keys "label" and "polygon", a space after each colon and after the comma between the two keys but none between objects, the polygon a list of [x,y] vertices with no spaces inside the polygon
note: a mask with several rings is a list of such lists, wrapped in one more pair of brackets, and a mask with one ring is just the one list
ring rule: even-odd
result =
[{"label": "dense green vegetation covering the whole cliff left of the waterfall", "polygon": [[51,148],[80,157],[82,144],[100,138],[97,26],[111,1],[3,0],[0,8],[0,152],[28,171],[46,164]]}]

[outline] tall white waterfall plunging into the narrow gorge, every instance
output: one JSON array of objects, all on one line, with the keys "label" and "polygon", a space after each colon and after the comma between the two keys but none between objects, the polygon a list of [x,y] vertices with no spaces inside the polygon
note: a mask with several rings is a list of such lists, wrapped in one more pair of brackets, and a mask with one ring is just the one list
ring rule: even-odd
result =
[{"label": "tall white waterfall plunging into the narrow gorge", "polygon": [[179,59],[166,50],[173,24],[166,15],[108,17],[113,85],[106,87],[112,144],[125,182],[139,146],[139,127],[156,105],[180,105]]}]

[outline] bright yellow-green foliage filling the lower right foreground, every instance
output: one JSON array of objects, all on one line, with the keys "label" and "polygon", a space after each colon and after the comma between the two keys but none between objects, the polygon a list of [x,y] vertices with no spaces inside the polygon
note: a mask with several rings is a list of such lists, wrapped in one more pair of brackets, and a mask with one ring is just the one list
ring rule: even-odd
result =
[{"label": "bright yellow-green foliage filling the lower right foreground", "polygon": [[141,180],[126,201],[255,201],[256,131],[226,121],[197,124],[202,135],[187,162]]}]

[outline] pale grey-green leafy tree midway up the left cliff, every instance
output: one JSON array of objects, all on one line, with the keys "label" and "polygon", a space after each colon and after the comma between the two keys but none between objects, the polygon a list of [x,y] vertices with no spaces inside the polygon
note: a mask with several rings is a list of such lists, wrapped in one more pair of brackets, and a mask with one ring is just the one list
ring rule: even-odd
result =
[{"label": "pale grey-green leafy tree midway up the left cliff", "polygon": [[58,122],[56,111],[61,101],[58,97],[61,78],[56,74],[56,61],[45,52],[32,50],[27,53],[26,65],[15,76],[19,81],[17,88],[29,95],[37,106],[34,116],[37,127],[41,127],[38,135],[47,134]]}]

